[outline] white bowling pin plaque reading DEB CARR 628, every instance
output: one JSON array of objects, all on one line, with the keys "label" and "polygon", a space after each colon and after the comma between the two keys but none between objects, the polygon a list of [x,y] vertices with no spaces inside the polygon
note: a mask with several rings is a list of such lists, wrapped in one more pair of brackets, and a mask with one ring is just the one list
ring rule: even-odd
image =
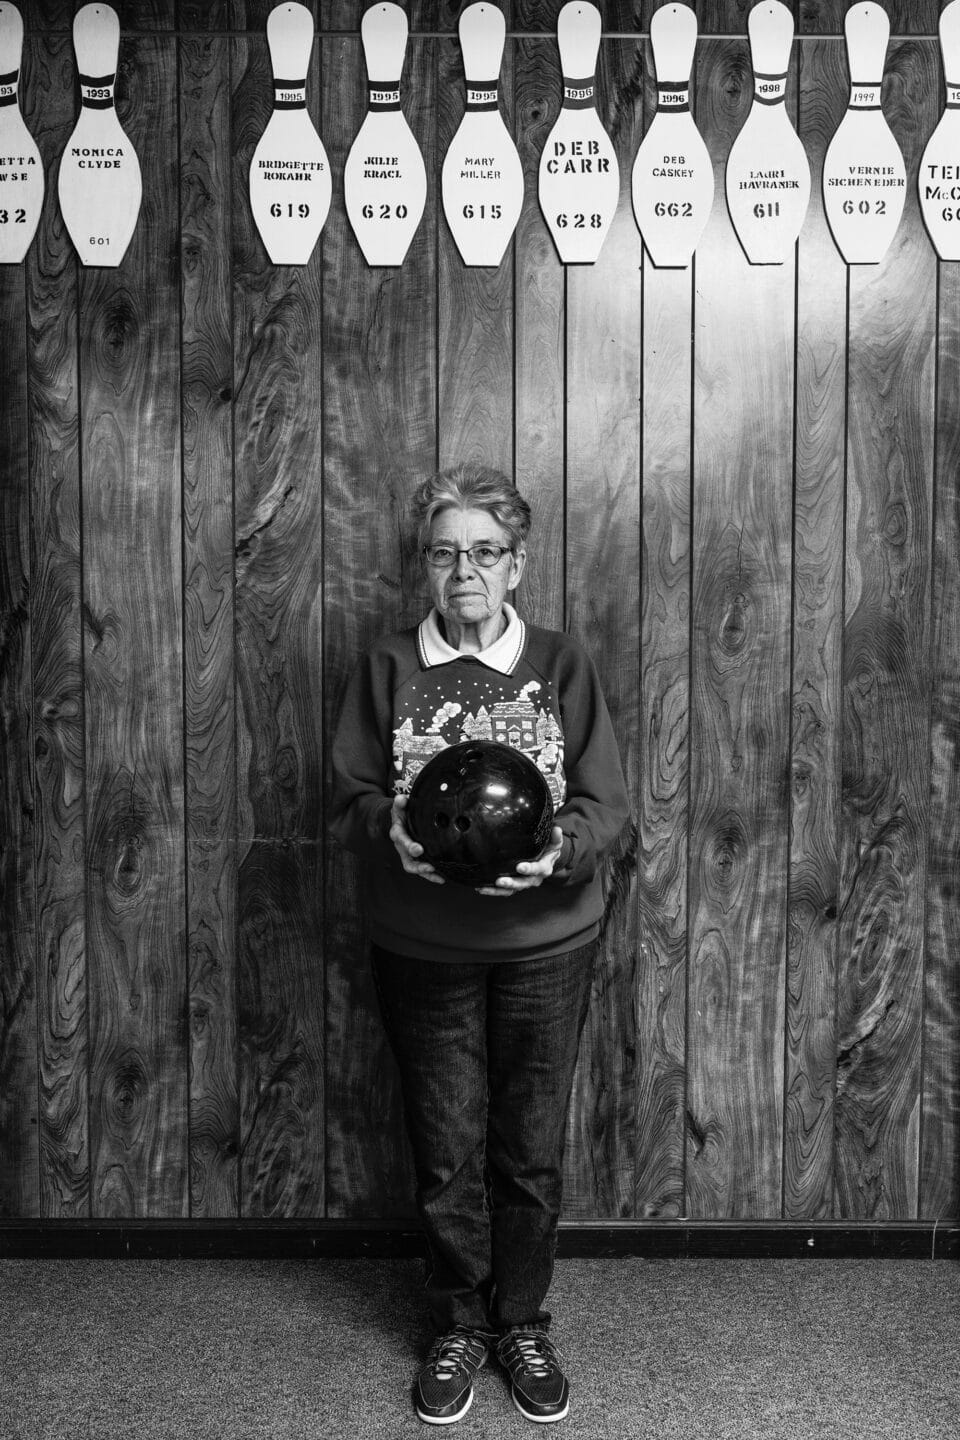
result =
[{"label": "white bowling pin plaque reading DEB CARR 628", "polygon": [[570,0],[557,16],[563,105],[540,156],[540,209],[564,265],[590,265],[620,199],[620,167],[596,107],[600,12]]}]

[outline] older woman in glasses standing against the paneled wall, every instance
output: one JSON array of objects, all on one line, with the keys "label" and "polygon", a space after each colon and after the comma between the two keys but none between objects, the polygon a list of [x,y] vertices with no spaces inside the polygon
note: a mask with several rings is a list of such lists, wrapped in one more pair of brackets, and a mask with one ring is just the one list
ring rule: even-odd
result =
[{"label": "older woman in glasses standing against the paneled wall", "polygon": [[[594,668],[570,636],[507,602],[530,507],[501,474],[459,465],[420,485],[430,613],[354,672],[334,740],[332,832],[367,860],[373,972],[396,1054],[429,1248],[436,1339],[422,1420],[459,1420],[495,1351],[517,1408],[560,1420],[569,1384],[548,1338],[567,1104],[603,894],[599,863],[628,815]],[[406,825],[438,749],[517,744],[556,802],[534,860],[494,884],[448,883]]]}]

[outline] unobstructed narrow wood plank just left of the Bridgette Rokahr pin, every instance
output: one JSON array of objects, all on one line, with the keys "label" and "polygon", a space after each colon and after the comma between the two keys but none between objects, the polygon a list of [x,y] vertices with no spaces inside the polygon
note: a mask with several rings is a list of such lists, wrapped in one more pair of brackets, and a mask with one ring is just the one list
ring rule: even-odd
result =
[{"label": "unobstructed narrow wood plank just left of the Bridgette Rokahr pin", "polygon": [[190,1214],[237,1214],[230,43],[180,42]]}]

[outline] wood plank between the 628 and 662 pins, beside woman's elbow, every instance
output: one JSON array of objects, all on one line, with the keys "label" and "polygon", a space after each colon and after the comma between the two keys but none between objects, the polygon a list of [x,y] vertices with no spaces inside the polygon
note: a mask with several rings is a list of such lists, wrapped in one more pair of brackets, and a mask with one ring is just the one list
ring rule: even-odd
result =
[{"label": "wood plank between the 628 and 662 pins, beside woman's elbow", "polygon": [[[600,256],[567,269],[567,625],[600,672],[633,808],[639,786],[640,238],[630,203],[643,60],[630,40],[597,58],[620,203]],[[630,1215],[636,1125],[636,825],[607,865],[603,946],[580,1047],[567,1148],[570,1215]]]}]

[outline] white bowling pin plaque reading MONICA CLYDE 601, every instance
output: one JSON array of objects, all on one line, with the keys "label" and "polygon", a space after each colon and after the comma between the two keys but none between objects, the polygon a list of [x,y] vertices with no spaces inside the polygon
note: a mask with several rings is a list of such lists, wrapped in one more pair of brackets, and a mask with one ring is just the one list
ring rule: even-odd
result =
[{"label": "white bowling pin plaque reading MONICA CLYDE 601", "polygon": [[60,157],[63,223],[83,265],[119,265],[130,245],[142,181],[137,153],[114,108],[119,20],[108,4],[85,4],[73,19],[81,115]]}]

